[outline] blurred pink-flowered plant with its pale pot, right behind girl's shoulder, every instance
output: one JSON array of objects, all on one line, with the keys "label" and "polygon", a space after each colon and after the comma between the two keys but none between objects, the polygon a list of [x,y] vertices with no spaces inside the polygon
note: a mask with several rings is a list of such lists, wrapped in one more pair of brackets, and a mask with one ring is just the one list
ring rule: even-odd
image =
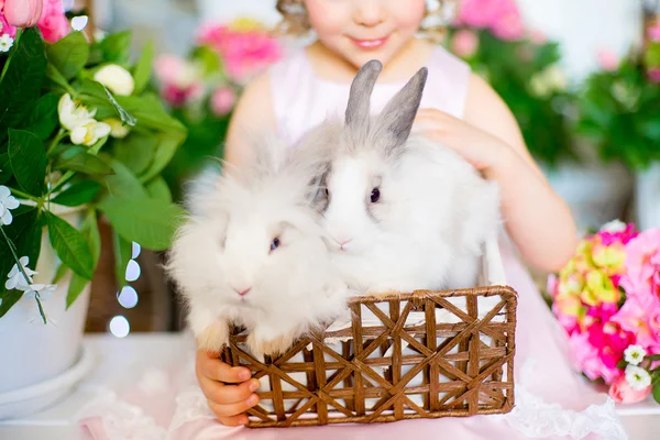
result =
[{"label": "blurred pink-flowered plant with its pale pot, right behind girl's shoulder", "polygon": [[593,145],[575,136],[576,87],[561,67],[558,43],[526,29],[513,0],[462,0],[448,36],[448,47],[512,109],[531,155],[579,228],[618,217],[631,178],[623,166],[603,166]]}]

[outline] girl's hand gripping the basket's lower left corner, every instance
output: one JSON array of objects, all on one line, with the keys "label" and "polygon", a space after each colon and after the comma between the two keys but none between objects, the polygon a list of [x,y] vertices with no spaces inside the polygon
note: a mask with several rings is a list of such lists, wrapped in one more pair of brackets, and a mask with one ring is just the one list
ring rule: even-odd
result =
[{"label": "girl's hand gripping the basket's lower left corner", "polygon": [[216,414],[218,420],[231,427],[248,424],[248,416],[244,413],[258,403],[258,396],[254,392],[260,385],[257,380],[250,378],[250,370],[232,367],[206,351],[199,350],[195,371],[209,408]]}]

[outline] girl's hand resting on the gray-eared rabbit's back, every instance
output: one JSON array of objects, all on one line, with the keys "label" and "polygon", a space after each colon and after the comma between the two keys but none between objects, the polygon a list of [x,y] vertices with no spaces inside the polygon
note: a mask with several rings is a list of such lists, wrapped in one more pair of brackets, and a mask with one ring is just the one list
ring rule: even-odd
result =
[{"label": "girl's hand resting on the gray-eared rabbit's back", "polygon": [[419,109],[414,131],[455,150],[486,176],[507,166],[513,153],[498,138],[438,109]]}]

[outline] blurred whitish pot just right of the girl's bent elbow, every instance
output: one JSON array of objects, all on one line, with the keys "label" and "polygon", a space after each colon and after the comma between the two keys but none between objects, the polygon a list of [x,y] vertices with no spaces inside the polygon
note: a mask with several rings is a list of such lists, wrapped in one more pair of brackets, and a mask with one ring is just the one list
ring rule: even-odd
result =
[{"label": "blurred whitish pot just right of the girl's bent elbow", "polygon": [[550,185],[569,205],[580,234],[624,215],[634,179],[623,165],[588,161],[542,168]]}]

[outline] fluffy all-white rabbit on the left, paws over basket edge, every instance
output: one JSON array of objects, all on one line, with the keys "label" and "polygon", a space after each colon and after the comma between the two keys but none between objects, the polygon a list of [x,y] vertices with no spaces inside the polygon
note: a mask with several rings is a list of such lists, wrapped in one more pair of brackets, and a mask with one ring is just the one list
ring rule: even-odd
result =
[{"label": "fluffy all-white rabbit on the left, paws over basket edge", "polygon": [[166,266],[200,348],[215,352],[229,323],[249,330],[255,355],[276,354],[346,310],[346,285],[311,208],[327,162],[302,152],[276,160],[282,145],[256,146],[253,165],[197,179]]}]

